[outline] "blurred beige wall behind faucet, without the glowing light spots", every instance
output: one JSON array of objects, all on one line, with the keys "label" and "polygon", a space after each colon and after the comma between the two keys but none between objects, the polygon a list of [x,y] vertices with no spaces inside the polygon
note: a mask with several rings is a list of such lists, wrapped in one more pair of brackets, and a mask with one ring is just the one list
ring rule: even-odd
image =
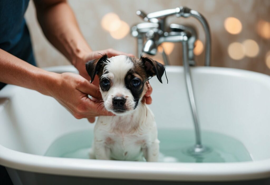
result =
[{"label": "blurred beige wall behind faucet, without the glowing light spots", "polygon": [[[139,9],[150,13],[178,6],[188,6],[202,13],[209,22],[212,34],[212,66],[241,68],[270,75],[270,69],[266,65],[266,53],[270,51],[270,39],[265,39],[257,33],[257,24],[260,20],[270,22],[269,0],[70,0],[69,4],[75,12],[85,39],[93,50],[114,48],[127,53],[136,52],[135,39],[128,34],[123,39],[116,40],[105,31],[100,22],[106,13],[114,12],[119,15],[121,20],[132,26],[142,22],[136,16],[136,11]],[[242,31],[239,34],[232,35],[225,30],[224,20],[227,17],[235,17],[241,21]],[[38,65],[45,67],[69,64],[65,57],[56,51],[43,36],[36,20],[32,1],[26,12],[26,19]],[[202,26],[194,18],[172,17],[168,19],[168,23],[193,25],[197,29],[198,38],[204,43]],[[241,60],[231,59],[227,52],[228,46],[232,42],[242,43],[246,39],[252,39],[258,43],[258,55],[244,57]],[[169,55],[171,63],[182,65],[181,52],[178,52],[180,49],[181,45],[175,44],[173,52]],[[162,60],[160,54],[155,58],[159,61]],[[196,57],[196,61],[198,65],[203,65],[204,52]]]}]

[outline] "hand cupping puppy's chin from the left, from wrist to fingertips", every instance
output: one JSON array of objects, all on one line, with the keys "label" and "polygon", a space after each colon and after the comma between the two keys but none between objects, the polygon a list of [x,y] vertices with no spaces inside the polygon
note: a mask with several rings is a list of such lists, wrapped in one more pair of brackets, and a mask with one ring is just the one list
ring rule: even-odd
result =
[{"label": "hand cupping puppy's chin from the left, from wrist to fingertips", "polygon": [[87,118],[95,122],[95,117],[104,115],[112,116],[103,104],[90,99],[88,94],[96,99],[101,98],[99,88],[88,80],[74,73],[56,74],[54,83],[49,85],[49,95],[77,119]]}]

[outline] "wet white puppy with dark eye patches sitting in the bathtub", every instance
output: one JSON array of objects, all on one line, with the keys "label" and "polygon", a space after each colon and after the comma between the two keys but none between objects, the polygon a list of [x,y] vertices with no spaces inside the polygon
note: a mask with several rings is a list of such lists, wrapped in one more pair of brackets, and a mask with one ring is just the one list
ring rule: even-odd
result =
[{"label": "wet white puppy with dark eye patches sitting in the bathtub", "polygon": [[164,66],[147,57],[103,55],[88,61],[86,70],[91,82],[98,75],[103,106],[115,114],[97,119],[90,158],[158,161],[156,122],[142,100],[149,77],[157,76],[162,83]]}]

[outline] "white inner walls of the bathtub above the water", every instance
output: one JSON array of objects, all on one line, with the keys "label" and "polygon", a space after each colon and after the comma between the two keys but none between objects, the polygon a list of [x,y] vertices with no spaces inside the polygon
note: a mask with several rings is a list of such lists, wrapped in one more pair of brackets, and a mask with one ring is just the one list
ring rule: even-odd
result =
[{"label": "white inner walls of the bathtub above the water", "polygon": [[[155,77],[154,112],[159,129],[193,129],[183,68],[167,67],[168,84]],[[201,129],[231,136],[244,144],[252,160],[270,158],[270,83],[268,76],[238,70],[192,69]],[[262,77],[262,78],[260,78]],[[0,144],[6,148],[44,155],[60,136],[91,130],[86,119],[75,119],[51,97],[8,85],[0,92]],[[89,136],[91,137],[91,136]]]}]

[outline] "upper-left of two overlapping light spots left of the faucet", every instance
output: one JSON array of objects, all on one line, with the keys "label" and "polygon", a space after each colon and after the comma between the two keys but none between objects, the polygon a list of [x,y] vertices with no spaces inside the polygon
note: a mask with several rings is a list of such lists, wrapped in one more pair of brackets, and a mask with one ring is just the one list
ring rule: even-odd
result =
[{"label": "upper-left of two overlapping light spots left of the faucet", "polygon": [[117,14],[110,12],[103,16],[101,26],[104,30],[113,32],[120,28],[121,20]]}]

